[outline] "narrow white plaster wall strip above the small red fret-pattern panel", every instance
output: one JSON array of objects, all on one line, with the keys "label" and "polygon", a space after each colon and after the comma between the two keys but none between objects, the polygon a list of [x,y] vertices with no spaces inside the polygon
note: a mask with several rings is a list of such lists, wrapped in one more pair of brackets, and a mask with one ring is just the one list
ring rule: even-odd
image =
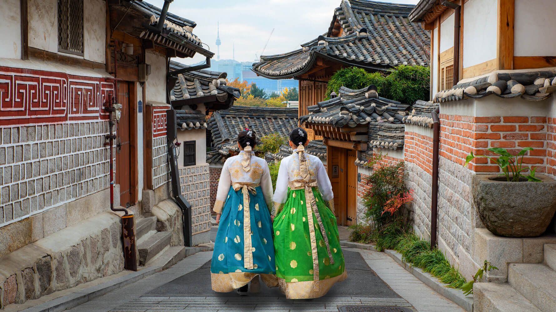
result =
[{"label": "narrow white plaster wall strip above the small red fret-pattern panel", "polygon": [[147,50],[145,61],[151,65],[151,74],[145,82],[147,102],[166,103],[166,57]]}]

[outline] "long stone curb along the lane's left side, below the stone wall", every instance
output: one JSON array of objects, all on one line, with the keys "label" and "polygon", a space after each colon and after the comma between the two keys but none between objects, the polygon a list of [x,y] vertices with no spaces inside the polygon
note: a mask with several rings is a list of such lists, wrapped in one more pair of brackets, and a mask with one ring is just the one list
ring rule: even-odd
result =
[{"label": "long stone curb along the lane's left side, below the stone wall", "polygon": [[112,290],[121,288],[123,286],[134,283],[135,281],[146,278],[149,275],[158,273],[164,269],[167,269],[173,264],[178,263],[178,261],[187,258],[188,256],[206,250],[208,249],[205,247],[185,247],[185,253],[183,253],[184,257],[180,257],[181,259],[172,259],[173,263],[171,265],[165,264],[162,266],[149,266],[142,269],[141,271],[133,272],[125,276],[121,276],[120,278],[107,281],[105,283],[98,284],[87,289],[83,289],[76,293],[47,301],[46,303],[33,306],[32,308],[27,308],[25,310],[22,310],[21,312],[62,312],[64,310],[74,308],[75,306],[86,303],[87,301],[95,299],[98,296],[110,293],[110,291]]}]

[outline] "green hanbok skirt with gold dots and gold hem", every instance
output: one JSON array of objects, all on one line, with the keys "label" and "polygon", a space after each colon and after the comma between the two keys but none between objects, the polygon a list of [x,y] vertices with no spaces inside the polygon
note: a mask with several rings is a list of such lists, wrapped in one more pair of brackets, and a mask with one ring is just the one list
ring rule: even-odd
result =
[{"label": "green hanbok skirt with gold dots and gold hem", "polygon": [[[327,207],[318,188],[313,187],[315,204],[330,245],[329,257],[326,239],[315,213],[312,220],[307,215],[305,189],[288,189],[284,208],[274,219],[274,246],[276,276],[280,289],[288,299],[309,299],[323,296],[337,281],[347,276],[344,254],[334,213]],[[312,221],[312,229],[310,222]],[[314,232],[314,235],[310,231]],[[315,237],[317,255],[313,256],[311,237]],[[315,261],[318,261],[316,264]],[[318,266],[318,280],[314,274]]]}]

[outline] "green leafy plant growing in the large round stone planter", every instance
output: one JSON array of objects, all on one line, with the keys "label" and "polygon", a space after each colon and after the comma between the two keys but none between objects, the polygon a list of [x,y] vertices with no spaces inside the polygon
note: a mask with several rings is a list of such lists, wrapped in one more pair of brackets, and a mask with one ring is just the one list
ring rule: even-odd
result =
[{"label": "green leafy plant growing in the large round stone planter", "polygon": [[[469,164],[471,160],[477,157],[484,157],[490,159],[492,162],[496,163],[498,167],[502,170],[502,175],[508,180],[508,182],[519,182],[520,179],[527,179],[529,182],[542,182],[539,178],[535,178],[535,171],[537,168],[523,167],[523,156],[533,148],[526,147],[522,149],[517,155],[512,155],[504,148],[489,148],[490,152],[500,155],[498,158],[490,157],[486,155],[475,155],[471,152],[465,158],[465,165]],[[521,158],[519,158],[521,156]],[[529,175],[523,175],[522,172],[529,170]]]}]

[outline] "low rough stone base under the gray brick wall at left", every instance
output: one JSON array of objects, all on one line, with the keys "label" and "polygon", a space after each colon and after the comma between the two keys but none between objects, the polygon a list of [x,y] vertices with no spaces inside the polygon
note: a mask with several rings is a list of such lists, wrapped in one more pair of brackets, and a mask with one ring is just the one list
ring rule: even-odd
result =
[{"label": "low rough stone base under the gray brick wall at left", "polygon": [[0,308],[123,270],[120,217],[96,215],[0,258]]}]

